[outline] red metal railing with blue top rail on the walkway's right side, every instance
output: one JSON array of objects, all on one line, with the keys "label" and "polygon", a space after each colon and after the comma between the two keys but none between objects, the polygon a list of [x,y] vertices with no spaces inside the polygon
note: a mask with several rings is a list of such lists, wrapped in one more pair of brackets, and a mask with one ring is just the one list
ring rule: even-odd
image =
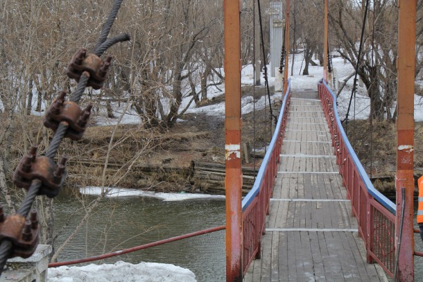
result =
[{"label": "red metal railing with blue top rail on the walkway's right side", "polygon": [[377,191],[365,173],[343,130],[336,109],[336,96],[322,80],[318,85],[319,98],[335,148],[352,213],[359,224],[359,234],[367,250],[367,261],[376,261],[393,277],[395,269],[395,204]]}]

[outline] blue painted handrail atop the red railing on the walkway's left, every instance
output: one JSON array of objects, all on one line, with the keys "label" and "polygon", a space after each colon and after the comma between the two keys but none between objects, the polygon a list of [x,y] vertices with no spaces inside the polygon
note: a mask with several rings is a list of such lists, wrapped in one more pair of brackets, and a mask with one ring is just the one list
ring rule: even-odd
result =
[{"label": "blue painted handrail atop the red railing on the walkway's left", "polygon": [[264,156],[263,162],[261,162],[261,166],[259,168],[259,172],[257,173],[256,180],[254,181],[254,185],[252,186],[250,192],[242,200],[242,211],[248,208],[254,197],[256,197],[260,192],[261,184],[264,181],[264,174],[266,173],[266,167],[268,166],[268,162],[270,160],[270,155],[277,144],[277,138],[279,137],[280,129],[282,126],[282,120],[284,118],[284,109],[286,106],[286,100],[288,98],[288,93],[291,91],[291,79],[288,79],[288,87],[286,89],[284,102],[282,103],[281,112],[279,113],[279,118],[277,118],[277,124],[275,127],[275,133],[273,134],[272,141],[270,141],[268,150],[266,155]]}]

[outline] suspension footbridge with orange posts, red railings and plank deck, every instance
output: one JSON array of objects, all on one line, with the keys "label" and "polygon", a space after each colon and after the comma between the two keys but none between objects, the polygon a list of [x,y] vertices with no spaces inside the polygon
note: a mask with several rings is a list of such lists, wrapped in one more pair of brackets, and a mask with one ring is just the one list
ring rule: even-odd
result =
[{"label": "suspension footbridge with orange posts, red railings and plank deck", "polygon": [[[288,71],[284,71],[284,100],[275,133],[252,190],[242,198],[240,3],[224,1],[223,5],[226,226],[49,267],[94,261],[225,229],[227,281],[386,281],[387,276],[414,281],[414,256],[422,256],[415,252],[413,240],[413,233],[418,232],[413,229],[415,0],[399,1],[396,204],[372,186],[338,116],[336,96],[328,85],[327,1],[322,80],[313,91],[291,89]],[[289,38],[289,33],[285,36]],[[104,42],[116,43],[105,37],[100,44]],[[288,66],[287,53],[285,59]],[[84,75],[88,80],[89,73]],[[26,217],[28,211],[21,213]],[[25,226],[25,230],[31,228],[37,229]],[[2,252],[10,256],[14,246],[3,245]]]}]

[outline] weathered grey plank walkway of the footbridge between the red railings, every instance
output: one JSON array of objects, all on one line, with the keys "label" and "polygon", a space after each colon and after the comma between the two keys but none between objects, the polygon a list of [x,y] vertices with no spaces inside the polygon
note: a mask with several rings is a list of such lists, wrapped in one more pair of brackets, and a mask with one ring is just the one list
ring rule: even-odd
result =
[{"label": "weathered grey plank walkway of the footbridge between the red railings", "polygon": [[261,259],[244,281],[387,281],[365,262],[317,92],[292,94]]}]

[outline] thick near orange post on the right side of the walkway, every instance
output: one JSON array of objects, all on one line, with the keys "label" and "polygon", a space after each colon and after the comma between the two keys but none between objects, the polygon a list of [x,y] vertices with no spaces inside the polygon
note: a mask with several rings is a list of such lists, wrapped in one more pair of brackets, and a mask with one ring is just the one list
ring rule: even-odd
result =
[{"label": "thick near orange post on the right side of the walkway", "polygon": [[[399,0],[398,85],[397,85],[397,218],[396,243],[402,216],[402,236],[398,254],[398,281],[414,281],[413,238],[413,150],[416,0]],[[404,199],[402,188],[405,188]],[[404,215],[401,214],[405,201]],[[397,245],[398,246],[398,245]]]}]

